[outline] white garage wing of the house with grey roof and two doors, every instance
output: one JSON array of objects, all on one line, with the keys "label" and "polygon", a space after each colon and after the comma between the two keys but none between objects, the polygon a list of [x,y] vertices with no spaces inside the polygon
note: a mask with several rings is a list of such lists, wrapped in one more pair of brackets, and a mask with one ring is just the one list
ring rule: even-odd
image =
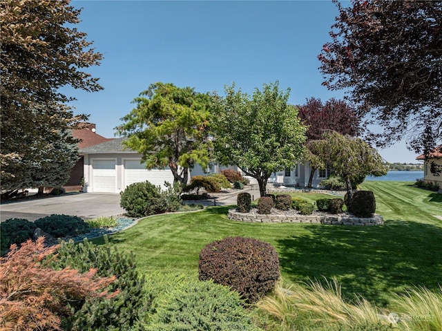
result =
[{"label": "white garage wing of the house with grey roof and two doors", "polygon": [[173,183],[169,167],[146,169],[140,153],[124,149],[125,139],[115,138],[80,149],[84,160],[85,192],[119,193],[128,185],[146,180],[162,187],[165,181]]}]

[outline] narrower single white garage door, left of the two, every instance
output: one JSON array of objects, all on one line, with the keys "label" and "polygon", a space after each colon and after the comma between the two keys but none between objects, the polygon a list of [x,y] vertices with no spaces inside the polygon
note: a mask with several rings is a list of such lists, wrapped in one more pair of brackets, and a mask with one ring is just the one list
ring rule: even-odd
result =
[{"label": "narrower single white garage door, left of the two", "polygon": [[92,160],[93,191],[115,193],[117,187],[116,160]]}]

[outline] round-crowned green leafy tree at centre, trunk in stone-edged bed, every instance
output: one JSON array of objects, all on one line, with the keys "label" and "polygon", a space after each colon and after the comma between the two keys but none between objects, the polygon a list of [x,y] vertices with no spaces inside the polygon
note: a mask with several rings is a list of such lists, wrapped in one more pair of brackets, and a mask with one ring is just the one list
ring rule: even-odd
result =
[{"label": "round-crowned green leafy tree at centre, trunk in stone-edged bed", "polygon": [[226,86],[225,97],[215,97],[213,135],[215,155],[222,164],[236,164],[256,178],[266,195],[271,173],[291,167],[302,157],[307,127],[298,110],[287,103],[289,90],[279,83],[264,84],[253,95]]}]

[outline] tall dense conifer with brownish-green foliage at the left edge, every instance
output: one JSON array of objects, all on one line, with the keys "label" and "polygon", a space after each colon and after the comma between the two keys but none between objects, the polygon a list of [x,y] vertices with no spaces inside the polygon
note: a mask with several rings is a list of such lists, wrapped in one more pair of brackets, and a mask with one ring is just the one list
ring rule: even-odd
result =
[{"label": "tall dense conifer with brownish-green foliage at the left edge", "polygon": [[73,115],[67,105],[73,98],[60,88],[102,89],[84,71],[102,55],[74,27],[80,10],[69,3],[0,1],[2,189],[64,184],[77,158],[67,132],[86,116]]}]

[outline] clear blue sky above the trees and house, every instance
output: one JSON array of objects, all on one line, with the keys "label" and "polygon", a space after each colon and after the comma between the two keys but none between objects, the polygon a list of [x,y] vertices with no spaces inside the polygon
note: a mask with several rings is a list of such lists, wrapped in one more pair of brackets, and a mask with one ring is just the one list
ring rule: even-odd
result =
[{"label": "clear blue sky above the trees and house", "polygon": [[[223,93],[225,85],[252,93],[262,84],[290,88],[291,104],[326,101],[342,91],[321,86],[317,55],[329,41],[338,10],[332,1],[77,1],[77,28],[104,55],[88,72],[104,91],[77,97],[75,113],[90,114],[97,133],[111,138],[131,101],[154,82]],[[380,150],[389,162],[416,162],[405,143]]]}]

